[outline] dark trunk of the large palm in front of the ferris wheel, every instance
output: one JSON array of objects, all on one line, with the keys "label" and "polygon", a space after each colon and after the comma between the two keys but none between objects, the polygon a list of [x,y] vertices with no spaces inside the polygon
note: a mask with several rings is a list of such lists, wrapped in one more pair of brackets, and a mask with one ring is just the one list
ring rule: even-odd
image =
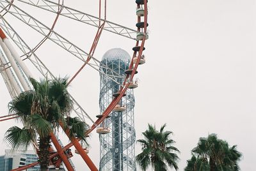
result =
[{"label": "dark trunk of the large palm in front of the ferris wheel", "polygon": [[43,137],[39,140],[38,161],[40,162],[40,170],[46,171],[49,167],[49,148],[50,137]]}]

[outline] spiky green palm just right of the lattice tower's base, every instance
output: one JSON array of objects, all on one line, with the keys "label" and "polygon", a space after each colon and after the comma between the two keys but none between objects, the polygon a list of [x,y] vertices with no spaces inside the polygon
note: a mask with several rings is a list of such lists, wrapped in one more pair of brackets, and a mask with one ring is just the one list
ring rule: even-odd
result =
[{"label": "spiky green palm just right of the lattice tower's base", "polygon": [[[172,144],[175,143],[171,138],[171,131],[164,131],[166,124],[157,131],[155,126],[148,124],[148,130],[143,132],[145,139],[138,140],[142,146],[142,152],[136,156],[136,161],[143,170],[150,164],[156,171],[165,171],[169,167],[178,169],[177,160],[179,157],[175,152],[179,152]],[[168,164],[168,166],[166,165]]]}]

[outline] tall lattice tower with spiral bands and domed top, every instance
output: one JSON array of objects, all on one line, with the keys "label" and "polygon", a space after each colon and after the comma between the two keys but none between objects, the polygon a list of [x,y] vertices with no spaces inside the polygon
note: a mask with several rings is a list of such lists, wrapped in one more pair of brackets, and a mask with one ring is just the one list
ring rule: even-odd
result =
[{"label": "tall lattice tower with spiral bands and domed top", "polygon": [[[124,77],[117,78],[117,81],[106,75],[110,74],[110,68],[117,75],[125,76],[125,70],[129,68],[131,58],[121,48],[108,50],[100,62],[100,114],[104,112],[109,103],[113,100],[113,94],[117,93]],[[108,68],[104,67],[108,66]],[[102,127],[110,128],[106,134],[100,133],[100,167],[101,171],[136,170],[135,165],[135,130],[134,130],[134,94],[132,89],[127,89],[126,96],[122,97],[118,105],[106,118]]]}]

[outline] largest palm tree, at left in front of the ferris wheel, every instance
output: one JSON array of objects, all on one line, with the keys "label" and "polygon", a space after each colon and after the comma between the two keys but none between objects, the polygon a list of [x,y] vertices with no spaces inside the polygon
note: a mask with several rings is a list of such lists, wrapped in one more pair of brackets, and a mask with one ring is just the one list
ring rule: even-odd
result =
[{"label": "largest palm tree, at left in front of the ferris wheel", "polygon": [[[47,170],[50,133],[58,131],[61,123],[64,130],[70,128],[70,138],[76,136],[85,140],[87,125],[77,118],[69,117],[72,100],[67,92],[67,78],[40,80],[40,82],[33,78],[29,80],[33,90],[19,94],[9,103],[10,114],[17,114],[24,128],[18,126],[9,128],[4,140],[12,149],[26,150],[38,137],[38,161],[41,170]],[[70,122],[73,120],[74,122]]]}]

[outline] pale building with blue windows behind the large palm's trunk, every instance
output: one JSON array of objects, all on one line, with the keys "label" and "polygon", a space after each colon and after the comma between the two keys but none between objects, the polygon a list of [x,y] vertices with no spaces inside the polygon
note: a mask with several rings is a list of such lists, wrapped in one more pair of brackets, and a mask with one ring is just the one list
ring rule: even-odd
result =
[{"label": "pale building with blue windows behind the large palm's trunk", "polygon": [[[35,151],[11,151],[10,149],[5,150],[4,156],[0,156],[0,171],[9,171],[13,168],[23,167],[29,165],[38,160]],[[40,166],[28,168],[27,171],[40,170]]]}]

